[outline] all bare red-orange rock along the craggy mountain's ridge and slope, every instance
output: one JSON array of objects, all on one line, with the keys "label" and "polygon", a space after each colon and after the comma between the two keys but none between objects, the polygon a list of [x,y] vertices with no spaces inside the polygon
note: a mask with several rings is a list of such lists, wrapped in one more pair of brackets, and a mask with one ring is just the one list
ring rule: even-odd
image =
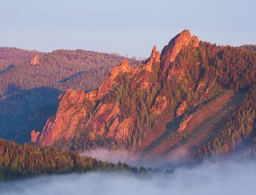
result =
[{"label": "all bare red-orange rock along the craggy mountain's ridge and slope", "polygon": [[[170,66],[182,47],[191,45],[197,47],[198,38],[191,36],[188,30],[182,31],[175,36],[170,43],[164,47],[162,54],[153,47],[150,58],[145,65],[131,67],[125,60],[120,65],[113,68],[111,74],[100,84],[97,90],[84,93],[81,90],[68,90],[60,95],[60,104],[54,116],[49,118],[42,132],[31,132],[31,141],[40,145],[48,146],[58,143],[72,143],[72,141],[84,136],[93,141],[100,136],[113,141],[127,141],[131,139],[136,123],[136,114],[129,118],[124,118],[121,113],[121,106],[118,102],[111,100],[104,101],[104,97],[113,90],[113,84],[118,83],[119,77],[124,74],[131,79],[132,87],[150,89],[154,82],[159,81],[159,71],[165,72],[171,68],[170,72],[175,72],[174,66]],[[154,65],[154,68],[153,68]],[[159,66],[159,67],[157,67]],[[180,79],[184,76],[184,70],[179,70]],[[158,95],[152,105],[151,111],[160,115],[167,108],[168,100],[164,95]],[[182,102],[177,110],[177,116],[184,113],[186,102]],[[174,114],[174,113],[173,113]],[[189,119],[181,123],[180,129],[186,129]]]}]

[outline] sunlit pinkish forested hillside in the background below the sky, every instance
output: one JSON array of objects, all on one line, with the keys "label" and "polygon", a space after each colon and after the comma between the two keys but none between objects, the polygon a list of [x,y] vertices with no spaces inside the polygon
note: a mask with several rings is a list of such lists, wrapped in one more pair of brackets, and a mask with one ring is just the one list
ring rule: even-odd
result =
[{"label": "sunlit pinkish forested hillside in the background below the sky", "polygon": [[[34,61],[33,61],[34,59]],[[57,50],[50,53],[22,49],[0,48],[0,94],[49,87],[65,91],[68,88],[97,88],[111,68],[124,61],[118,54],[91,51]],[[130,59],[133,65],[139,62]]]}]

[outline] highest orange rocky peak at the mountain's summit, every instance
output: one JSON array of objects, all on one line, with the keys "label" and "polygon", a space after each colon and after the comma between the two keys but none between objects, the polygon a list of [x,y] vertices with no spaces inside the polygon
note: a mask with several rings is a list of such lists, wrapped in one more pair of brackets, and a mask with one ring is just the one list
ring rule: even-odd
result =
[{"label": "highest orange rocky peak at the mountain's summit", "polygon": [[198,47],[199,40],[197,36],[191,36],[189,30],[187,29],[170,40],[168,45],[166,45],[161,52],[161,68],[163,72],[165,72],[170,66],[170,63],[175,60],[182,47],[186,47],[188,45]]}]

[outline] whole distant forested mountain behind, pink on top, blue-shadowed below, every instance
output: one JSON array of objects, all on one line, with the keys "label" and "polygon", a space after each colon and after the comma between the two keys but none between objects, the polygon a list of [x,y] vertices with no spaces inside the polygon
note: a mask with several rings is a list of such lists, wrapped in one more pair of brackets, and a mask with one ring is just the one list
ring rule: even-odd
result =
[{"label": "whole distant forested mountain behind, pink on top, blue-shadowed below", "polygon": [[[97,88],[124,59],[83,50],[46,53],[1,47],[0,137],[18,143],[29,141],[31,129],[42,129],[56,112],[61,93],[68,88]],[[141,63],[129,61],[135,66]]]}]

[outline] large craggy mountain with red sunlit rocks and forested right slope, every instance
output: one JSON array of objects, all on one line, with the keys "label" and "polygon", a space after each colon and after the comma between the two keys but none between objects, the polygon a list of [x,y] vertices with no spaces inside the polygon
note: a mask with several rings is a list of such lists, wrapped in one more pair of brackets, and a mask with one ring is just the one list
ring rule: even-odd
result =
[{"label": "large craggy mountain with red sunlit rocks and forested right slope", "polygon": [[38,146],[125,149],[151,159],[223,155],[254,146],[256,52],[200,41],[188,30],[144,65],[123,61],[96,90],[67,90]]}]

